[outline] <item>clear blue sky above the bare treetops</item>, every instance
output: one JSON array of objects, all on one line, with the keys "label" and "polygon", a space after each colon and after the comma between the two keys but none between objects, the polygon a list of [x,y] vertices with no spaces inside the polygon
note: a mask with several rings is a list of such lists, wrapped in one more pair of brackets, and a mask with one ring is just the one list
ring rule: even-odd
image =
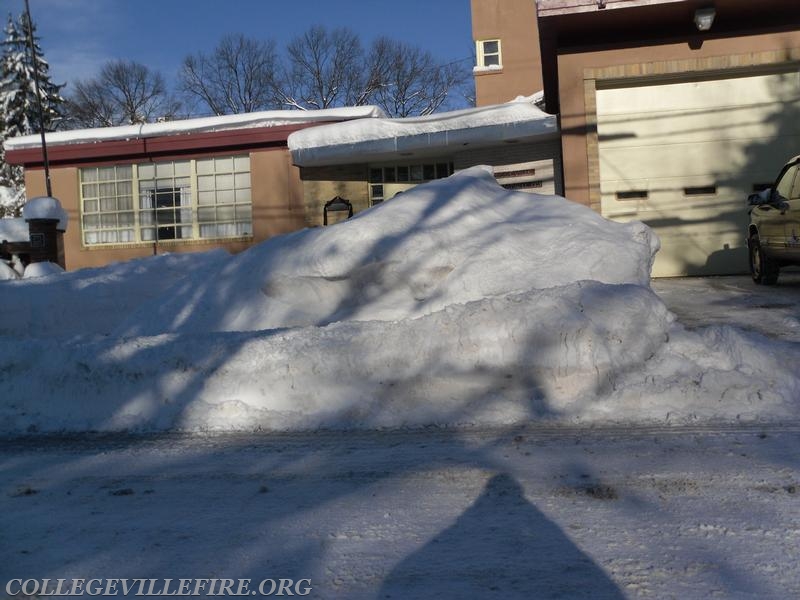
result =
[{"label": "clear blue sky above the bare treetops", "polygon": [[[172,79],[183,58],[209,51],[227,33],[273,39],[282,47],[309,26],[348,26],[366,44],[380,35],[434,56],[472,55],[469,0],[29,0],[56,83],[92,77],[126,58]],[[7,14],[24,0],[0,0]],[[67,88],[66,91],[68,91]]]}]

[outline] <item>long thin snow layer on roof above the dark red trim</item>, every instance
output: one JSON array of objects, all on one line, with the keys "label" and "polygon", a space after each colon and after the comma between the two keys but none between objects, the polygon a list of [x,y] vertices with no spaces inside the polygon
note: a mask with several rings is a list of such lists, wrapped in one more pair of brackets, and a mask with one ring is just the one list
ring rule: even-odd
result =
[{"label": "long thin snow layer on roof above the dark red trim", "polygon": [[[167,121],[164,123],[143,123],[140,125],[124,125],[120,127],[97,127],[93,129],[76,129],[74,131],[57,131],[48,133],[46,140],[49,145],[61,146],[385,116],[386,113],[377,106],[354,106],[327,108],[323,110],[271,110],[239,115],[224,115],[221,117]],[[3,145],[6,150],[38,148],[42,145],[42,139],[38,134],[25,135],[7,139]]]}]

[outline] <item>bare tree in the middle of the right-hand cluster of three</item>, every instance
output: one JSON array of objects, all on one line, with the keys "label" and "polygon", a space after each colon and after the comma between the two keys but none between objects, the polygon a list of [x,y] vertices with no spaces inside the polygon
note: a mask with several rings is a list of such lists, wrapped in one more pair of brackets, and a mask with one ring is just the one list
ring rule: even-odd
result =
[{"label": "bare tree in the middle of the right-hand cluster of three", "polygon": [[321,109],[368,101],[370,73],[364,70],[361,42],[350,29],[312,27],[294,38],[286,52],[288,64],[277,87],[284,106]]}]

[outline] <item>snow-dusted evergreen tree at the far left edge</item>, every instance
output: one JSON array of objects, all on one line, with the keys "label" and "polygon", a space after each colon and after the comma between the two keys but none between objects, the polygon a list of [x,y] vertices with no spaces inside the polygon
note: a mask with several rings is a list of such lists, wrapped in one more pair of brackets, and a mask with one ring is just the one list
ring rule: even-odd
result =
[{"label": "snow-dusted evergreen tree at the far left edge", "polygon": [[[36,25],[24,13],[17,23],[9,15],[0,59],[0,143],[40,131],[33,63],[27,45],[29,35],[33,36],[36,49],[45,131],[52,131],[61,118],[64,99],[59,92],[63,86],[50,81],[50,65],[39,46]],[[5,149],[0,149],[0,216],[17,216],[24,199],[22,169],[6,164]]]}]

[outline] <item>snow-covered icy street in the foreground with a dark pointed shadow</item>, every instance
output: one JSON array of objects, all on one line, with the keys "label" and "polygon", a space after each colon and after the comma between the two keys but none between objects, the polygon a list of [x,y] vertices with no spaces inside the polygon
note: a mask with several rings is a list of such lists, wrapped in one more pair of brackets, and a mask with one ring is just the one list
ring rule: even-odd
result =
[{"label": "snow-covered icy street in the foreground with a dark pointed shadow", "polygon": [[312,598],[797,598],[800,428],[6,439],[12,578]]}]

